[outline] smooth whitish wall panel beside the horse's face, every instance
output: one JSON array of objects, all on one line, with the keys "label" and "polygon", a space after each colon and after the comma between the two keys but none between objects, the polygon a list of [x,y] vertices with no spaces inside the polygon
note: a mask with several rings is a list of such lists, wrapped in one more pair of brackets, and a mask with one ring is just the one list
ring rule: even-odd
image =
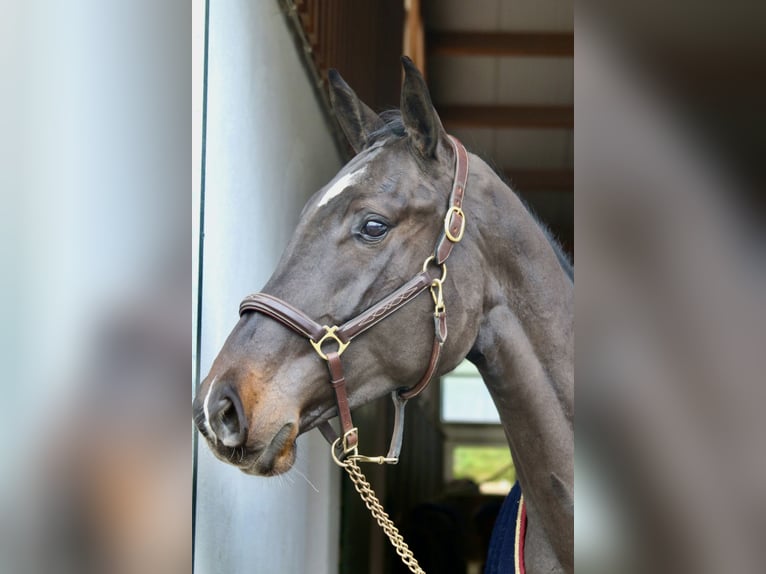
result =
[{"label": "smooth whitish wall panel beside the horse's face", "polygon": [[[203,2],[195,16],[204,16]],[[199,71],[199,58],[194,65]],[[271,274],[303,203],[340,167],[276,0],[211,1],[208,66],[203,376],[240,300]],[[201,90],[201,74],[195,81]],[[249,477],[200,444],[197,574],[338,571],[340,475],[316,431],[299,440],[296,467]]]}]

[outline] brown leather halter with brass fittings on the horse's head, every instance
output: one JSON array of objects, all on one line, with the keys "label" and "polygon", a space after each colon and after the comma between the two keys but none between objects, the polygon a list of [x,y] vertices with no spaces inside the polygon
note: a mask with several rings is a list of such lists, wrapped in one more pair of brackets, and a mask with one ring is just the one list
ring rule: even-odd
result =
[{"label": "brown leather halter with brass fittings on the horse's head", "polygon": [[[299,335],[304,336],[309,340],[309,343],[311,343],[319,356],[327,361],[330,371],[330,385],[335,391],[342,437],[338,438],[328,422],[320,423],[319,430],[327,441],[333,445],[332,452],[336,461],[339,460],[336,446],[341,441],[341,458],[353,457],[357,460],[377,462],[379,464],[396,464],[404,434],[404,407],[409,399],[420,394],[428,386],[439,364],[439,355],[441,354],[444,341],[447,339],[447,310],[442,296],[443,283],[447,276],[445,261],[450,256],[450,253],[452,253],[453,247],[463,238],[465,231],[463,194],[465,193],[466,182],[468,180],[468,154],[463,144],[457,138],[449,136],[449,141],[455,151],[455,177],[449,198],[449,208],[444,217],[444,228],[436,242],[434,253],[425,260],[423,270],[420,273],[383,300],[340,326],[328,327],[320,325],[303,311],[267,293],[248,295],[239,306],[240,316],[248,311],[262,313]],[[433,278],[431,276],[429,271],[429,266],[431,265],[441,267],[441,277]],[[346,379],[340,357],[354,338],[377,325],[429,288],[434,300],[434,343],[428,367],[415,385],[409,388],[401,388],[391,394],[396,409],[394,430],[388,454],[385,457],[371,458],[362,456],[358,453],[359,433],[351,420],[351,410],[346,392]],[[327,342],[335,343],[337,348],[332,351],[323,350]]]}]

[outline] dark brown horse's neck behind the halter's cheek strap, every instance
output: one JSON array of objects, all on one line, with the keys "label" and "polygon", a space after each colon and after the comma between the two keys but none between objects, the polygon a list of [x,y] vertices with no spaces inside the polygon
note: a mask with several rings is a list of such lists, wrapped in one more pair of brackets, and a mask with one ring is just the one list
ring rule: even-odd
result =
[{"label": "dark brown horse's neck behind the halter's cheek strap", "polygon": [[500,413],[530,510],[569,570],[574,285],[540,226],[507,186],[484,171],[476,183],[488,206],[479,216],[489,279],[486,314],[469,357]]}]

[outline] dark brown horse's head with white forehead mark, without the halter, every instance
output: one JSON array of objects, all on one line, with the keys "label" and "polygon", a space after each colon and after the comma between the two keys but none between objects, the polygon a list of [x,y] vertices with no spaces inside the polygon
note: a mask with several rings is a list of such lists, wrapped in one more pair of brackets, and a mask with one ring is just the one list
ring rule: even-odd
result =
[{"label": "dark brown horse's head with white forehead mark, without the halter", "polygon": [[[341,325],[411,279],[444,228],[455,151],[423,77],[403,62],[401,109],[390,115],[379,116],[336,72],[329,75],[333,108],[357,155],[308,201],[263,288],[318,324]],[[465,213],[467,239],[471,209]],[[443,285],[450,338],[440,372],[466,355],[479,328],[478,314],[469,312],[481,305],[477,252],[475,240],[466,240],[450,259]],[[443,270],[436,266],[434,274]],[[434,301],[424,293],[351,342],[343,355],[351,408],[422,376],[433,316]],[[336,401],[327,366],[306,338],[263,313],[244,312],[200,387],[194,414],[216,456],[249,474],[274,475],[292,466],[298,435],[336,414]]]}]

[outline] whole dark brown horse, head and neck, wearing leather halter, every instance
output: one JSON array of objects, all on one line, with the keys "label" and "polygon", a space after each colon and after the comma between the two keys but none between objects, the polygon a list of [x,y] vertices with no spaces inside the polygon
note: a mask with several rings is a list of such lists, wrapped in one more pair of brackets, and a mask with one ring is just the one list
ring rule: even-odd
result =
[{"label": "whole dark brown horse, head and neck, wearing leather halter", "polygon": [[[343,464],[366,458],[351,409],[388,394],[403,405],[467,358],[516,465],[526,571],[572,572],[572,270],[502,178],[447,134],[423,76],[402,62],[400,109],[380,115],[329,73],[356,155],[309,199],[263,291],[243,302],[195,423],[218,458],[273,476],[293,465],[298,435],[329,435],[339,416]],[[399,446],[370,460],[395,461]]]}]

